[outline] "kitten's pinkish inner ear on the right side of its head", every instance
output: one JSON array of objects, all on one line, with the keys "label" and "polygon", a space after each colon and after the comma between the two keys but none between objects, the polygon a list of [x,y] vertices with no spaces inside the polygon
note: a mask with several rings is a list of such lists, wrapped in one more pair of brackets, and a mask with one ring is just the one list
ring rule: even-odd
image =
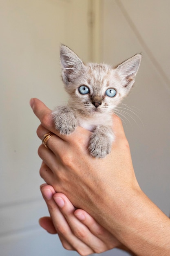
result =
[{"label": "kitten's pinkish inner ear on the right side of its head", "polygon": [[141,63],[141,54],[136,54],[135,56],[124,61],[117,67],[117,72],[121,79],[124,81],[124,87],[130,90],[133,83],[135,82],[135,76],[139,69]]}]

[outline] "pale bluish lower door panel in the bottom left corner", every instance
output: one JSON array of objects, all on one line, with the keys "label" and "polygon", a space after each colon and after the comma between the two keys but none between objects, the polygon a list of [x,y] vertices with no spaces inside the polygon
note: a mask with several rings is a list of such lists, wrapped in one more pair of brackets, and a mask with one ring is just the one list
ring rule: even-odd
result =
[{"label": "pale bluish lower door panel in the bottom left corner", "polygon": [[77,252],[66,251],[57,235],[47,234],[38,228],[16,233],[0,239],[2,256],[78,256]]}]

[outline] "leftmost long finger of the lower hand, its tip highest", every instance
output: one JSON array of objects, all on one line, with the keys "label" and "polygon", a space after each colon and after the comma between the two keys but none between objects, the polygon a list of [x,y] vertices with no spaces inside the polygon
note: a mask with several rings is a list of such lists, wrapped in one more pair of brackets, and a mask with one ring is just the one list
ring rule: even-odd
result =
[{"label": "leftmost long finger of the lower hand, its tip highest", "polygon": [[63,214],[57,207],[57,204],[53,200],[53,194],[55,192],[53,187],[49,185],[43,186],[41,192],[46,201],[57,233],[62,236],[66,240],[66,242],[71,245],[77,252],[79,252],[79,254],[94,253],[94,251],[90,247],[88,247],[84,242],[82,242],[73,234],[71,228],[68,225],[68,222],[66,221]]}]

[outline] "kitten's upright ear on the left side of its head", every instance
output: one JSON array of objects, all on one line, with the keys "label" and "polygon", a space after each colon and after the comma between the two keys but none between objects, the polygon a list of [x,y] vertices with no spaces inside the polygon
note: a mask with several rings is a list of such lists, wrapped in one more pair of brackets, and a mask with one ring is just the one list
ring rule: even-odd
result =
[{"label": "kitten's upright ear on the left side of its head", "polygon": [[73,80],[74,76],[84,66],[81,59],[66,45],[61,45],[60,47],[60,61],[62,65],[62,78],[65,83]]}]

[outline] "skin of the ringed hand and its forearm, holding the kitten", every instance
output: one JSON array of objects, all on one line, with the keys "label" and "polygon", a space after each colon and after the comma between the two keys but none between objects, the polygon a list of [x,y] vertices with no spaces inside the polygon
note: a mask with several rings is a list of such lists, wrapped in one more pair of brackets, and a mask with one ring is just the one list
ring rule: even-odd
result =
[{"label": "skin of the ringed hand and its forearm, holding the kitten", "polygon": [[51,110],[38,99],[31,100],[31,107],[41,122],[38,137],[49,131],[55,134],[48,140],[49,148],[38,149],[44,181],[134,254],[170,255],[170,220],[139,187],[119,117],[113,115],[116,139],[110,154],[95,159],[87,150],[91,132],[78,127],[69,136],[60,135]]}]

